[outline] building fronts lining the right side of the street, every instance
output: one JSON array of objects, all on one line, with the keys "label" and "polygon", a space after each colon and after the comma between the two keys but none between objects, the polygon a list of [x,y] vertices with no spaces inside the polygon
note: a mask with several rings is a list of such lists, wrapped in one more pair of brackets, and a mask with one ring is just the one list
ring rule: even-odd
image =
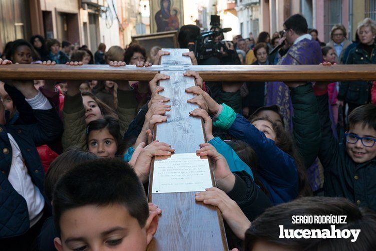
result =
[{"label": "building fronts lining the right side of the street", "polygon": [[274,33],[283,30],[283,22],[300,13],[308,28],[317,29],[320,41],[330,41],[330,30],[343,24],[348,38],[354,40],[357,24],[364,18],[376,20],[376,0],[237,0],[239,30],[243,37],[252,32]]}]

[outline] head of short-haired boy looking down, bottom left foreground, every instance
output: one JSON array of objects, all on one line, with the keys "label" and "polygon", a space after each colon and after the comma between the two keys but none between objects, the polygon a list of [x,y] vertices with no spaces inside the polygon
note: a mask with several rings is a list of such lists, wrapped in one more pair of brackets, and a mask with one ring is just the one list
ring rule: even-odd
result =
[{"label": "head of short-haired boy looking down, bottom left foreground", "polygon": [[83,163],[57,183],[53,195],[61,250],[146,250],[157,230],[140,180],[118,159]]}]

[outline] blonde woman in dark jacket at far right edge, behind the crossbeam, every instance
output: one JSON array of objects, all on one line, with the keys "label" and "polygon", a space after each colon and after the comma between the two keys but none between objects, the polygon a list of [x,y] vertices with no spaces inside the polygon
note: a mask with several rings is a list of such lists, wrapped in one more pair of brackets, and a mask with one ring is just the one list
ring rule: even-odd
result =
[{"label": "blonde woman in dark jacket at far right edge, behind the crossbeam", "polygon": [[[369,18],[364,19],[358,24],[357,34],[360,43],[349,52],[345,64],[376,64],[376,22]],[[372,82],[342,82],[339,87],[338,100],[348,104],[350,113],[356,107],[370,102],[371,87]]]}]

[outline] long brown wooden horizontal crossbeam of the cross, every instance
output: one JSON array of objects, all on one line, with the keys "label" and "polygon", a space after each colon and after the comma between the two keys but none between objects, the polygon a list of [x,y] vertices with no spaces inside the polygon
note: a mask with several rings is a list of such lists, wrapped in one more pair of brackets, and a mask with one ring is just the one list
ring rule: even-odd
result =
[{"label": "long brown wooden horizontal crossbeam of the cross", "polygon": [[2,79],[150,81],[160,71],[198,71],[204,81],[373,81],[375,65],[211,65],[110,67],[108,65],[0,66]]}]

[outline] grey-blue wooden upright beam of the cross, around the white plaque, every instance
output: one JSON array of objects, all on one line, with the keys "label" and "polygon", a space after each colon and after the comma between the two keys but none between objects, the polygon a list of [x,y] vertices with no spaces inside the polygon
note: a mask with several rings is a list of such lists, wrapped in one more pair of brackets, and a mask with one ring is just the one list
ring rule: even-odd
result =
[{"label": "grey-blue wooden upright beam of the cross, around the white plaque", "polygon": [[[162,65],[191,65],[190,58],[182,56],[188,50],[163,50],[170,55],[162,57]],[[157,125],[155,138],[170,144],[176,154],[195,153],[206,138],[201,119],[189,116],[189,111],[198,108],[187,102],[193,95],[185,92],[185,88],[195,85],[194,78],[183,76],[184,67],[181,71],[161,73],[170,76],[169,80],[160,81],[160,86],[165,88],[161,95],[170,98],[171,111],[167,113],[167,122]],[[152,193],[153,166],[149,201],[162,209],[162,216],[148,250],[228,250],[219,210],[196,202],[195,192]],[[214,185],[214,175],[210,173],[209,182]]]}]

